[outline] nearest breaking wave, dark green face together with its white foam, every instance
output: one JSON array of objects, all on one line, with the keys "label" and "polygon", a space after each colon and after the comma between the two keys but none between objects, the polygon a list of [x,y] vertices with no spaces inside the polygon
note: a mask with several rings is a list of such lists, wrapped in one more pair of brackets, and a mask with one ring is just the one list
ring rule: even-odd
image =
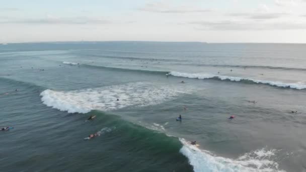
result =
[{"label": "nearest breaking wave, dark green face together with its white foam", "polygon": [[[262,148],[231,159],[200,149],[183,138],[139,126],[114,114],[97,110],[91,111],[91,114],[97,115],[99,127],[108,130],[95,141],[104,139],[103,146],[112,150],[110,158],[120,156],[123,158],[121,162],[127,163],[112,164],[113,171],[119,171],[122,165],[133,171],[283,171],[278,169],[278,163],[274,161],[276,149]],[[132,166],[129,167],[129,164]],[[135,169],[135,166],[139,168]],[[157,167],[151,169],[151,166]]]}]

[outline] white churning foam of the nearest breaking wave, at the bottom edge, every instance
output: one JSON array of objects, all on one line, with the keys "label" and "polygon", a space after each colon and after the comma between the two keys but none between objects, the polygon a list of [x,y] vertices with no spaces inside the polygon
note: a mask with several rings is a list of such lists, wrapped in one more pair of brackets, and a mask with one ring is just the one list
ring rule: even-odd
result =
[{"label": "white churning foam of the nearest breaking wave, at the bottom edge", "polygon": [[273,161],[277,150],[259,149],[246,153],[237,159],[216,156],[206,150],[201,150],[195,145],[191,145],[184,139],[180,139],[183,147],[180,152],[189,159],[195,172],[201,171],[284,171],[278,169],[278,163]]}]

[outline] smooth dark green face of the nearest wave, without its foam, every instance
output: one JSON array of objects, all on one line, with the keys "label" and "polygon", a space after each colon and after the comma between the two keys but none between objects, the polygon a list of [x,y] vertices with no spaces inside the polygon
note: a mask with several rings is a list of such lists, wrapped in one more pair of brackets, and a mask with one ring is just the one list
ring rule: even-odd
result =
[{"label": "smooth dark green face of the nearest wave, without its foam", "polygon": [[96,110],[91,113],[97,115],[96,121],[101,128],[111,129],[93,141],[105,138],[103,146],[112,150],[110,159],[120,157],[120,164],[115,164],[118,161],[112,162],[112,171],[122,170],[122,165],[125,170],[132,171],[192,171],[188,159],[180,153],[182,144],[177,137],[149,130],[116,115]]}]

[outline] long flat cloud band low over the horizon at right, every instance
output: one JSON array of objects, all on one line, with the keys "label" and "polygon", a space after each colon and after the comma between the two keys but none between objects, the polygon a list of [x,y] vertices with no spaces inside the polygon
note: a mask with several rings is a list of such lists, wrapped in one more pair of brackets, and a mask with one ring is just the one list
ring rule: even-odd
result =
[{"label": "long flat cloud band low over the horizon at right", "polygon": [[297,30],[306,29],[306,23],[254,23],[241,21],[219,21],[219,22],[189,22],[197,25],[198,30]]}]

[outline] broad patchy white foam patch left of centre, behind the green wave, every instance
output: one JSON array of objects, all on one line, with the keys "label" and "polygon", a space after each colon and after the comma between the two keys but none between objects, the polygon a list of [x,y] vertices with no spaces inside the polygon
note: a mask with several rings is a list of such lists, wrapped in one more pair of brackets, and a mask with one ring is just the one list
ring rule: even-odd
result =
[{"label": "broad patchy white foam patch left of centre, behind the green wave", "polygon": [[137,82],[68,92],[45,90],[40,95],[42,102],[49,107],[68,113],[88,113],[94,109],[110,111],[129,106],[157,105],[185,92],[184,88]]}]

